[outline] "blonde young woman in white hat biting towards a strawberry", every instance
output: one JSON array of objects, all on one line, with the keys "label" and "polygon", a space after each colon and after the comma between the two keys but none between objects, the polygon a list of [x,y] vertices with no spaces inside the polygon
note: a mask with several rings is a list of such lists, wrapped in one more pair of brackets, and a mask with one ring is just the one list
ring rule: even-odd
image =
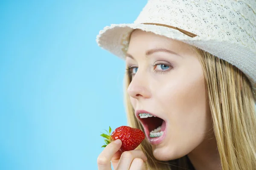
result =
[{"label": "blonde young woman in white hat biting towards a strawberry", "polygon": [[148,0],[97,42],[125,59],[128,122],[146,135],[108,144],[99,170],[256,170],[256,1]]}]

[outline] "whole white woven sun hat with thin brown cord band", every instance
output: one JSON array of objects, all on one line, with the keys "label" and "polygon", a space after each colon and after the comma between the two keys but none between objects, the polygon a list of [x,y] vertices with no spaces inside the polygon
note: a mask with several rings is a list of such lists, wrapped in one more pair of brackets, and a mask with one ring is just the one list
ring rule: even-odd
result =
[{"label": "whole white woven sun hat with thin brown cord band", "polygon": [[96,42],[125,59],[134,29],[180,40],[235,65],[250,80],[256,101],[256,0],[148,0],[134,23],[106,26]]}]

